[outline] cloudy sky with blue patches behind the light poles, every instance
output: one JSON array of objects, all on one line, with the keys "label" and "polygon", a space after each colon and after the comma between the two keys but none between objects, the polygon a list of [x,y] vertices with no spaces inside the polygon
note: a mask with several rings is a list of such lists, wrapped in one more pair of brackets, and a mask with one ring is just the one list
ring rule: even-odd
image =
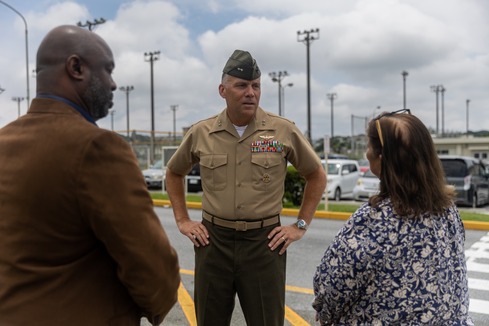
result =
[{"label": "cloudy sky with blue patches behind the light poles", "polygon": [[[235,49],[249,51],[262,71],[260,106],[278,113],[278,84],[270,72],[287,71],[282,113],[307,130],[307,68],[297,31],[319,28],[310,46],[311,135],[350,135],[352,115],[371,116],[403,107],[436,128],[436,95],[443,85],[445,131],[489,130],[489,2],[486,0],[2,0],[19,11],[28,27],[30,97],[36,94],[37,48],[61,24],[107,22],[95,32],[111,46],[118,87],[129,96],[130,129],[151,130],[150,64],[144,52],[161,51],[154,65],[155,129],[173,130],[225,107],[218,86]],[[26,97],[25,27],[0,3],[0,127],[18,117],[12,97]],[[21,114],[27,110],[21,102]],[[114,130],[127,129],[126,94],[114,92]],[[354,118],[354,133],[364,121]],[[439,130],[442,96],[439,95]],[[99,120],[111,129],[111,117]]]}]

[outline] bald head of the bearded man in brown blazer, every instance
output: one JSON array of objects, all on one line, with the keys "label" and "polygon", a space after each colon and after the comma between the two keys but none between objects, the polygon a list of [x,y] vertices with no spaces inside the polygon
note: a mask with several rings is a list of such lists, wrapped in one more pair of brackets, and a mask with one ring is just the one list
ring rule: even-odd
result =
[{"label": "bald head of the bearded man in brown blazer", "polygon": [[58,26],[41,42],[36,65],[37,94],[63,97],[95,120],[107,115],[115,89],[114,62],[100,36],[77,26]]}]

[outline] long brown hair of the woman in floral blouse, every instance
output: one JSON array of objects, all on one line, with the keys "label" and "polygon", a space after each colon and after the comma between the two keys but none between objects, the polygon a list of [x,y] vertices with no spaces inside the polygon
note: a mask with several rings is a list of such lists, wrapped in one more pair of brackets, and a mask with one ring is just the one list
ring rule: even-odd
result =
[{"label": "long brown hair of the woman in floral blouse", "polygon": [[376,207],[380,200],[390,197],[396,212],[407,217],[443,213],[453,205],[453,189],[446,187],[442,163],[421,120],[398,113],[382,116],[378,122],[383,146],[375,119],[367,125],[373,157],[382,154],[380,192],[370,197],[369,203]]}]

